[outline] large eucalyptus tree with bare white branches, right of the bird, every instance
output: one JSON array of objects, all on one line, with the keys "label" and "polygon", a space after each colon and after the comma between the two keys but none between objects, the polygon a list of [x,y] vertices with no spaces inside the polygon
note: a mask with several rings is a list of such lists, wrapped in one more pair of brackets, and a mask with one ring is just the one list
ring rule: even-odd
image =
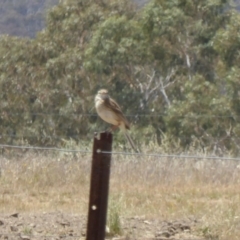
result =
[{"label": "large eucalyptus tree with bare white branches, right of the bird", "polygon": [[154,127],[158,142],[165,136],[183,147],[195,139],[214,147],[227,133],[219,130],[225,121],[213,116],[230,110],[219,90],[213,39],[230,21],[229,4],[154,0],[135,15],[114,15],[96,29],[85,67],[121,89],[129,113],[138,125]]}]

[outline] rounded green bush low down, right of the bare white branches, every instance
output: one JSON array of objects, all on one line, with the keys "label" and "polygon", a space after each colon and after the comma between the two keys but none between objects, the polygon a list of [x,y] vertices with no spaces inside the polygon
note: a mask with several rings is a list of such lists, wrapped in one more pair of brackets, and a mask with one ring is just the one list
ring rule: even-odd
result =
[{"label": "rounded green bush low down, right of the bare white branches", "polygon": [[177,137],[184,147],[198,139],[199,147],[229,150],[228,130],[233,119],[228,98],[219,96],[216,84],[197,75],[186,82],[183,94],[185,99],[176,102],[165,117],[168,134]]}]

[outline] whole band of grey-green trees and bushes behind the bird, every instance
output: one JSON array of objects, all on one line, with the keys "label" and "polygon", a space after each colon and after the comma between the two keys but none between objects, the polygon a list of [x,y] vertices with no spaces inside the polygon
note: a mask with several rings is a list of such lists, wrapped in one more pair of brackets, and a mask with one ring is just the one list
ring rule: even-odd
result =
[{"label": "whole band of grey-green trees and bushes behind the bird", "polygon": [[0,142],[92,136],[104,126],[93,97],[106,87],[138,144],[238,155],[240,15],[230,3],[65,0],[35,39],[1,36]]}]

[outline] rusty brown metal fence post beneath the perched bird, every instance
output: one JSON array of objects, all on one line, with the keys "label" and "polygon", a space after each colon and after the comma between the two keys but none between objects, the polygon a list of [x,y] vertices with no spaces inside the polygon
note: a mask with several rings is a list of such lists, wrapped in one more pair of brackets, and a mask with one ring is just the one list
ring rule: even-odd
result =
[{"label": "rusty brown metal fence post beneath the perched bird", "polygon": [[105,238],[111,154],[102,151],[112,151],[109,132],[94,137],[86,240]]}]

